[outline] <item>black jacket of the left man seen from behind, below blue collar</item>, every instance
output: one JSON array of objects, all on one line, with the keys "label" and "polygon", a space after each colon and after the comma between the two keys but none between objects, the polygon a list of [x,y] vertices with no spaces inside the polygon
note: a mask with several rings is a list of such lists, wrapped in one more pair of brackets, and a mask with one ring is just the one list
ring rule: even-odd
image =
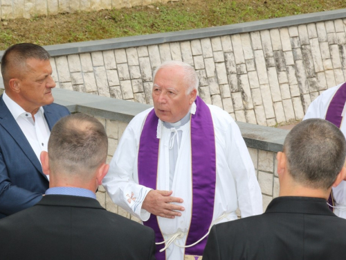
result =
[{"label": "black jacket of the left man seen from behind, below blue collar", "polygon": [[0,220],[0,259],[155,259],[154,231],[93,198],[47,195]]}]

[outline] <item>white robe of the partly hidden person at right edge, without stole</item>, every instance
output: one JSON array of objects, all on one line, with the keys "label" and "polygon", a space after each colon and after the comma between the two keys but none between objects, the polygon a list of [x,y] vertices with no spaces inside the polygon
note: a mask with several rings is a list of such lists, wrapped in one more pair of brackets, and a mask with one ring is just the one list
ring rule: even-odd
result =
[{"label": "white robe of the partly hidden person at right edge, without stole", "polygon": [[[334,94],[338,91],[339,87],[331,87],[327,89],[325,92],[320,94],[310,105],[307,110],[307,114],[305,114],[304,119],[325,119],[327,114],[327,110],[329,107],[329,103],[331,99],[334,97]],[[343,116],[345,116],[345,108],[343,111]],[[340,130],[346,137],[346,123],[343,120],[340,125]],[[336,202],[336,207],[334,207],[334,214],[341,218],[346,218],[346,182],[343,180],[338,184],[337,187],[333,187],[333,196]]]}]

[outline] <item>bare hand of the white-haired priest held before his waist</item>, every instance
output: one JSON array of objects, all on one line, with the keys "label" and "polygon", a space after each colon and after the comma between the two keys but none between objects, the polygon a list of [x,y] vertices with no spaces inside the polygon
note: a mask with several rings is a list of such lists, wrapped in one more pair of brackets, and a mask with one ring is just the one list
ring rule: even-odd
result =
[{"label": "bare hand of the white-haired priest held before his waist", "polygon": [[158,191],[152,189],[147,193],[143,201],[142,209],[163,218],[181,216],[181,213],[176,210],[184,211],[185,208],[179,205],[170,204],[170,202],[183,203],[183,199],[172,197],[172,193],[173,191]]}]

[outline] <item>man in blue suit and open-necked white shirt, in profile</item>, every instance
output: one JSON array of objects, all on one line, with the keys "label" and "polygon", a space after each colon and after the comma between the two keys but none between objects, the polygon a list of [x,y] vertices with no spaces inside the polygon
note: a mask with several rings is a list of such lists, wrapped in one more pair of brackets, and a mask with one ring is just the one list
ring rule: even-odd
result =
[{"label": "man in blue suit and open-necked white shirt, in profile", "polygon": [[48,189],[39,155],[51,128],[69,110],[54,104],[49,53],[36,44],[10,46],[1,59],[0,218],[35,205]]}]

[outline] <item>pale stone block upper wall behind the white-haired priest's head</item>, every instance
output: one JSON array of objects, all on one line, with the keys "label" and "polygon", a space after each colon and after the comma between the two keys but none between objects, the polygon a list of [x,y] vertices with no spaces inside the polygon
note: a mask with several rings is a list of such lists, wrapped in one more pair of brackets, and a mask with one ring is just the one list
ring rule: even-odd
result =
[{"label": "pale stone block upper wall behind the white-haired priest's head", "polygon": [[199,95],[237,121],[301,120],[325,89],[346,78],[346,19],[51,59],[57,87],[152,104],[152,73],[183,60]]}]

